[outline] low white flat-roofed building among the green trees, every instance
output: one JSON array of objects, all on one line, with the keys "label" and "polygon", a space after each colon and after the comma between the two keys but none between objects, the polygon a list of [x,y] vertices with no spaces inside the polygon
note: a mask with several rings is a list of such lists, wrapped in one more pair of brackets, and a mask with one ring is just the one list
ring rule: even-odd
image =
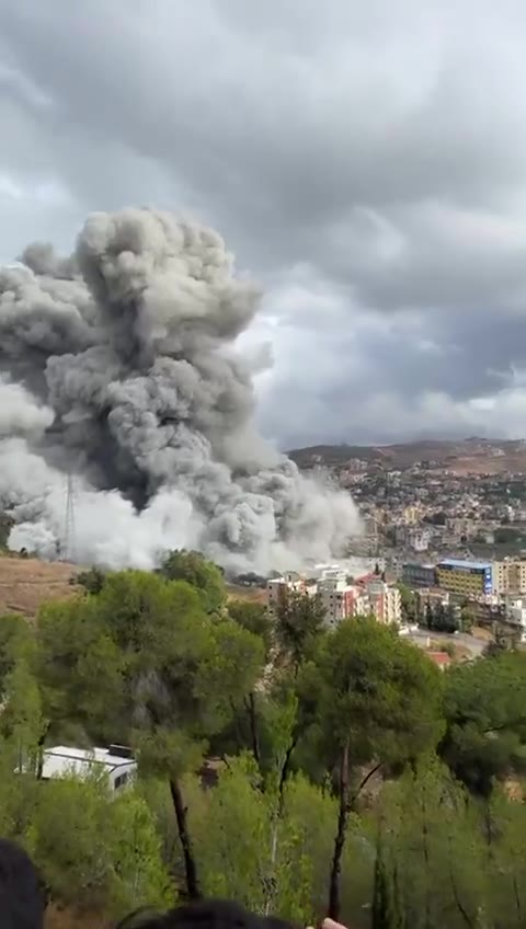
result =
[{"label": "low white flat-roofed building among the green trees", "polygon": [[129,748],[111,745],[110,748],[71,748],[57,745],[46,748],[42,759],[42,780],[66,778],[75,775],[88,778],[94,772],[107,775],[112,793],[129,787],[137,773],[137,762]]}]

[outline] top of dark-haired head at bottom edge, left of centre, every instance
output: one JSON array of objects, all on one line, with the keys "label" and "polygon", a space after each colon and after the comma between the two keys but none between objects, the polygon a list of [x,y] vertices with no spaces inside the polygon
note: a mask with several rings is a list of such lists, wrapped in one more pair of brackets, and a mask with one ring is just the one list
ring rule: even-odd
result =
[{"label": "top of dark-haired head at bottom edge, left of centre", "polygon": [[205,899],[183,904],[162,915],[135,913],[117,929],[293,929],[275,916],[258,916],[232,901]]}]

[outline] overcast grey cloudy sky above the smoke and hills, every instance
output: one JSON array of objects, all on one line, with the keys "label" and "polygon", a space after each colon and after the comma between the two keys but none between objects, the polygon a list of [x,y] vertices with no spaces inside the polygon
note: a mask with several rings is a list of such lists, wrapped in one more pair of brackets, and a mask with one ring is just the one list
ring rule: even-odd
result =
[{"label": "overcast grey cloudy sky above the smoke and hills", "polygon": [[0,0],[0,257],[214,225],[283,446],[526,435],[524,0]]}]

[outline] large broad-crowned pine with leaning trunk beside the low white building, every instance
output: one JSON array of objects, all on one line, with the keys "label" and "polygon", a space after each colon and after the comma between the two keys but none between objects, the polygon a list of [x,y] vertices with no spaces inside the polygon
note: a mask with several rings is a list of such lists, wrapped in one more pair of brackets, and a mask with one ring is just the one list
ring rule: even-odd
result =
[{"label": "large broad-crowned pine with leaning trunk beside the low white building", "polygon": [[75,723],[91,743],[130,744],[142,771],[167,779],[182,878],[198,896],[182,779],[253,690],[263,643],[207,615],[202,590],[140,571],[110,574],[96,596],[45,608],[38,640],[55,727]]}]

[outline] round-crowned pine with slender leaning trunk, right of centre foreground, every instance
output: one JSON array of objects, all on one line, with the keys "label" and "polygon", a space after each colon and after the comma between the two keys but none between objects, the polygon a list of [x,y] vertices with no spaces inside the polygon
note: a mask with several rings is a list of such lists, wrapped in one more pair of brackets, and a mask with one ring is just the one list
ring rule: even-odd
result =
[{"label": "round-crowned pine with slender leaning trunk, right of centre foreground", "polygon": [[[351,811],[376,771],[403,765],[441,735],[441,676],[416,647],[374,620],[346,620],[322,640],[306,668],[317,691],[316,725],[328,764],[336,761],[339,815],[329,914],[340,910],[342,855]],[[367,767],[355,788],[352,771]]]}]

